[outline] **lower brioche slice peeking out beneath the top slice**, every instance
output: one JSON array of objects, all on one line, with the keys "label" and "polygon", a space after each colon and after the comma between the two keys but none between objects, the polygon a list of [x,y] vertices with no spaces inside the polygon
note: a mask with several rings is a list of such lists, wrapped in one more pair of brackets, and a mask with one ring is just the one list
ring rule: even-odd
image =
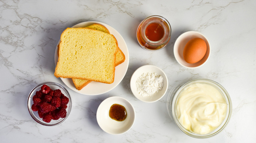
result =
[{"label": "lower brioche slice peeking out beneath the top slice", "polygon": [[[87,28],[96,29],[96,30],[99,30],[102,32],[110,33],[108,31],[108,29],[101,24],[92,24],[90,26],[87,26]],[[125,56],[124,56],[123,52],[120,50],[120,48],[118,47],[118,51],[116,54],[116,66],[123,63],[124,61],[125,61]],[[72,81],[77,90],[81,90],[83,87],[85,87],[86,85],[88,85],[91,82],[89,80],[75,79],[75,78],[72,78]]]}]

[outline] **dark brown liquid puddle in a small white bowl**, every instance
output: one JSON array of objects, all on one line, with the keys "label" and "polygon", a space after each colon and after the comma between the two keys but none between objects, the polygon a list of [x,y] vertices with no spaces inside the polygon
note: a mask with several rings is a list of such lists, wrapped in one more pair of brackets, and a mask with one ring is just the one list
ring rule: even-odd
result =
[{"label": "dark brown liquid puddle in a small white bowl", "polygon": [[109,117],[116,121],[123,121],[127,117],[127,112],[124,106],[113,104],[109,109]]}]

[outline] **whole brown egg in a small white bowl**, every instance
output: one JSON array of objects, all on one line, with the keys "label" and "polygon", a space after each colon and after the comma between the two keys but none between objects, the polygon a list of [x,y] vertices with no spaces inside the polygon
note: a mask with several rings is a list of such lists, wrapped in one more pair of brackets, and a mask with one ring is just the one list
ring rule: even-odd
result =
[{"label": "whole brown egg in a small white bowl", "polygon": [[200,61],[206,53],[206,43],[201,38],[189,40],[183,50],[183,58],[187,63],[193,64]]}]

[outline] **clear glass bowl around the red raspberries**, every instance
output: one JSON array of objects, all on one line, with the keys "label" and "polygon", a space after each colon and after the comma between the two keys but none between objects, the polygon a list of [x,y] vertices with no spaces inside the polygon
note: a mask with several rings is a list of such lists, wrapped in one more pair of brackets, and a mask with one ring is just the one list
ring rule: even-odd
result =
[{"label": "clear glass bowl around the red raspberries", "polygon": [[[41,87],[42,87],[43,85],[49,86],[52,90],[60,89],[61,92],[62,92],[66,97],[68,97],[69,102],[68,102],[68,104],[67,104],[67,109],[66,109],[67,115],[66,115],[65,118],[60,118],[60,119],[58,119],[58,120],[53,120],[53,119],[52,119],[51,122],[47,123],[47,122],[43,121],[43,119],[38,116],[37,111],[32,111],[32,109],[31,109],[31,106],[32,106],[32,104],[33,104],[32,98],[33,98],[33,96],[35,95],[36,91],[41,90]],[[60,84],[58,84],[58,83],[54,83],[54,82],[44,82],[44,83],[41,83],[41,84],[37,85],[36,87],[34,87],[34,88],[32,89],[32,91],[30,92],[29,97],[28,97],[28,110],[29,110],[29,113],[30,113],[31,117],[32,117],[36,122],[38,122],[38,123],[40,123],[40,124],[42,124],[42,125],[45,125],[45,126],[55,126],[55,125],[58,125],[58,124],[62,123],[65,119],[68,118],[68,116],[69,116],[69,114],[70,114],[70,111],[71,111],[71,107],[72,107],[72,100],[71,100],[71,96],[70,96],[68,90],[67,90],[65,87],[63,87],[62,85],[60,85]]]}]

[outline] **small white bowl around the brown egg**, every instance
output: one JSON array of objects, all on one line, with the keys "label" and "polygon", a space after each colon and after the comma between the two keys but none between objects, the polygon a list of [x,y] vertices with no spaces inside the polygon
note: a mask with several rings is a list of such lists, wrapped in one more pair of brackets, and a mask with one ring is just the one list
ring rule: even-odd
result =
[{"label": "small white bowl around the brown egg", "polygon": [[[200,61],[198,61],[194,64],[189,64],[183,58],[183,49],[184,49],[186,43],[193,38],[203,39],[206,43],[207,50],[206,50],[204,57]],[[188,32],[181,34],[177,38],[177,40],[174,43],[173,53],[174,53],[175,59],[181,66],[183,66],[185,68],[189,68],[189,69],[195,69],[195,68],[199,68],[199,67],[203,66],[203,64],[209,59],[210,53],[211,53],[211,46],[210,46],[209,40],[203,34],[196,32],[196,31],[188,31]]]}]

